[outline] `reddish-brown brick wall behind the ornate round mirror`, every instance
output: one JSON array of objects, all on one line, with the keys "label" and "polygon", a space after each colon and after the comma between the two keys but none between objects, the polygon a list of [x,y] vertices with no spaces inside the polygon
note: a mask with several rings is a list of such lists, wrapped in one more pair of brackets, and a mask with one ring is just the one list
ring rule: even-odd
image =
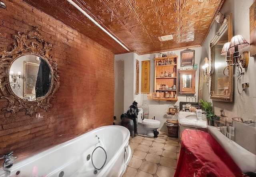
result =
[{"label": "reddish-brown brick wall behind the ornate round mirror", "polygon": [[[32,117],[25,110],[10,115],[0,99],[0,155],[14,151],[19,159],[110,125],[114,116],[114,54],[86,36],[22,2],[5,1],[0,9],[0,47],[15,41],[17,31],[37,26],[59,66],[60,88],[48,112]],[[1,96],[1,95],[0,95]]]}]

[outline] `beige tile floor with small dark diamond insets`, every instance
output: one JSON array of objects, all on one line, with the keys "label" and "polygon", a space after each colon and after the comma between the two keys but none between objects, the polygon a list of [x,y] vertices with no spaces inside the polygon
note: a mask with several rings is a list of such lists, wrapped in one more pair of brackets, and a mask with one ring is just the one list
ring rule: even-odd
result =
[{"label": "beige tile floor with small dark diamond insets", "polygon": [[180,154],[178,138],[160,131],[157,138],[130,137],[132,158],[122,177],[173,177]]}]

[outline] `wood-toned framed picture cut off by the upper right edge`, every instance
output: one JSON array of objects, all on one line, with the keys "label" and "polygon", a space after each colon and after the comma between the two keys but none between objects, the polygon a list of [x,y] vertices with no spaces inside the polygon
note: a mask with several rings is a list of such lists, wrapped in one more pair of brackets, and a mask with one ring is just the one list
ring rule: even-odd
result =
[{"label": "wood-toned framed picture cut off by the upper right edge", "polygon": [[256,1],[250,6],[250,56],[256,56]]}]

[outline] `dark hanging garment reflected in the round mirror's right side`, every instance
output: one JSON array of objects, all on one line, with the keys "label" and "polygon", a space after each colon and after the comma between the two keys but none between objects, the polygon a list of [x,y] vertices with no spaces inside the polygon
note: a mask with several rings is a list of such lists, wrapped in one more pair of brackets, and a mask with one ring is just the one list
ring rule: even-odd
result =
[{"label": "dark hanging garment reflected in the round mirror's right side", "polygon": [[40,58],[40,65],[38,69],[37,79],[36,79],[36,98],[44,96],[49,91],[51,84],[51,69],[44,61]]}]

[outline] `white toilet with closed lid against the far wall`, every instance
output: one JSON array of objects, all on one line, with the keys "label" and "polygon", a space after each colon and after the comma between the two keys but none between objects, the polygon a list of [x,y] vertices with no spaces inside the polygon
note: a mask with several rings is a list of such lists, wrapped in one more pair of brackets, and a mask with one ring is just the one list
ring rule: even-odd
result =
[{"label": "white toilet with closed lid against the far wall", "polygon": [[142,136],[154,137],[154,130],[160,128],[160,121],[154,119],[143,119],[143,109],[138,108],[137,122],[137,134]]}]

